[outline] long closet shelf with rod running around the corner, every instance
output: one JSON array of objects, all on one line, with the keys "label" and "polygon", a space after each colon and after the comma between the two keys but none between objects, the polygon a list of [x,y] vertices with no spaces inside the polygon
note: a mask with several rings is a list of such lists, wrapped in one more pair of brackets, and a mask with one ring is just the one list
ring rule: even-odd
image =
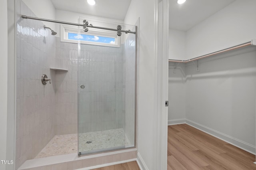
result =
[{"label": "long closet shelf with rod running around the corner", "polygon": [[194,61],[194,60],[210,57],[210,56],[213,56],[213,55],[218,55],[220,53],[232,51],[232,50],[235,50],[235,49],[239,49],[239,48],[247,47],[247,46],[251,46],[251,45],[256,45],[256,39],[253,39],[250,42],[246,42],[246,43],[242,43],[242,44],[239,44],[239,45],[235,45],[233,47],[222,49],[222,50],[219,50],[219,51],[216,51],[216,52],[213,52],[213,53],[209,53],[209,54],[206,54],[206,55],[202,55],[202,56],[199,56],[199,57],[195,57],[195,58],[192,58],[192,59],[187,59],[187,60],[169,59],[169,62],[188,63],[190,61]]}]

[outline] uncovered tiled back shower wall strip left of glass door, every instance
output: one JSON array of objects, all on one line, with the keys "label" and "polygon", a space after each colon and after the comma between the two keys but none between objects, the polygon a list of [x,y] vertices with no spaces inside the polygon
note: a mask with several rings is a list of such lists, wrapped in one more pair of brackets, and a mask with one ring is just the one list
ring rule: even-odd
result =
[{"label": "uncovered tiled back shower wall strip left of glass door", "polygon": [[60,42],[56,37],[56,58],[54,67],[68,69],[55,71],[56,112],[54,132],[77,133],[77,87],[78,87],[78,44]]}]

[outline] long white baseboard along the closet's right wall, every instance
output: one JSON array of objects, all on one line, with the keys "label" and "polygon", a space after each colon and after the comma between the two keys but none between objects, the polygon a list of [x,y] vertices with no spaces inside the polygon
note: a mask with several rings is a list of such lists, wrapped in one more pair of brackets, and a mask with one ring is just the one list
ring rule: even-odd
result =
[{"label": "long white baseboard along the closet's right wall", "polygon": [[196,123],[194,121],[190,121],[188,119],[186,119],[186,124],[188,124],[188,125],[190,125],[194,128],[197,128],[199,130],[202,130],[203,132],[206,132],[206,133],[208,133],[208,134],[210,134],[210,135],[212,135],[216,138],[224,140],[225,142],[228,142],[228,143],[230,143],[230,144],[232,144],[232,145],[234,145],[234,146],[236,146],[236,147],[238,147],[242,150],[245,150],[245,151],[250,152],[251,154],[255,155],[256,147],[252,144],[249,144],[247,142],[244,142],[242,140],[239,140],[237,138],[234,138],[232,136],[229,136],[227,134],[224,134],[224,133],[219,132],[217,130],[214,130],[212,128],[208,128],[204,125],[200,125],[199,123]]}]

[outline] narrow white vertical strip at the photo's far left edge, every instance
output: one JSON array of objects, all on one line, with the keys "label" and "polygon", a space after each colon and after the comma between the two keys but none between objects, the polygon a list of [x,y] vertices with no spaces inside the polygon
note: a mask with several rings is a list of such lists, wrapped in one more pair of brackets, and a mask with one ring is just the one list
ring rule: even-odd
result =
[{"label": "narrow white vertical strip at the photo's far left edge", "polygon": [[[3,33],[2,40],[0,41],[0,51],[1,51],[1,62],[0,62],[0,73],[1,84],[0,84],[0,108],[1,108],[1,119],[0,119],[0,160],[6,160],[6,140],[7,140],[7,80],[8,80],[8,51],[7,51],[7,1],[0,1],[0,18],[2,21],[2,26],[0,27],[0,32]],[[0,169],[5,169],[5,165],[0,163]]]}]

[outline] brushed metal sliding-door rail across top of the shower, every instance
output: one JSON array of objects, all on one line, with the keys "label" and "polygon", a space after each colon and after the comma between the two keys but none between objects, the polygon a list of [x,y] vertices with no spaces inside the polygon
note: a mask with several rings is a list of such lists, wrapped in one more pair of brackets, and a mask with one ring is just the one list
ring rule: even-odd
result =
[{"label": "brushed metal sliding-door rail across top of the shower", "polygon": [[59,23],[59,24],[68,24],[68,25],[81,26],[81,27],[87,26],[87,27],[90,27],[90,28],[98,28],[98,29],[102,29],[102,30],[120,31],[120,32],[125,32],[125,33],[136,34],[136,32],[132,32],[132,31],[117,30],[117,29],[112,29],[112,28],[97,27],[97,26],[84,25],[84,24],[76,24],[76,23],[72,23],[72,22],[62,22],[62,21],[56,21],[56,20],[48,20],[48,19],[44,19],[44,18],[36,18],[36,17],[26,16],[26,15],[22,15],[21,17],[24,18],[24,19],[32,19],[32,20],[39,20],[39,21],[55,22],[55,23]]}]

